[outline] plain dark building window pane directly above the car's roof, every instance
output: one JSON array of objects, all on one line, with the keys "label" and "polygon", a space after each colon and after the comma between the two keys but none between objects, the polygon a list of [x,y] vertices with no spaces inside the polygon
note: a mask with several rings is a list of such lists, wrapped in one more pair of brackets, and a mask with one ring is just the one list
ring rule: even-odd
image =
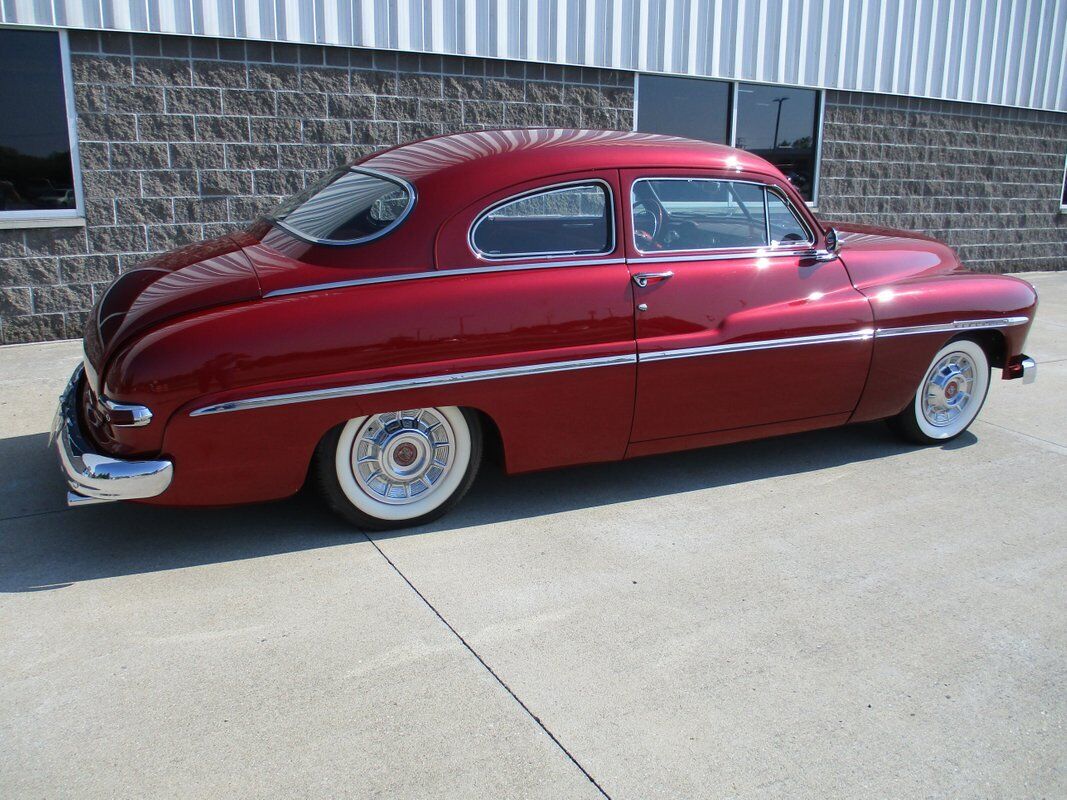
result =
[{"label": "plain dark building window pane directly above the car's roof", "polygon": [[637,87],[637,129],[646,133],[730,141],[730,84],[699,78],[642,75]]}]

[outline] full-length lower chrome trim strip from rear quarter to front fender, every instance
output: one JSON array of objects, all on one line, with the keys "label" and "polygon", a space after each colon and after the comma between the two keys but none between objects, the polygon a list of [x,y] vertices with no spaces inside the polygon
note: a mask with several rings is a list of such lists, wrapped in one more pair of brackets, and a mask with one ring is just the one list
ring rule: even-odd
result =
[{"label": "full-length lower chrome trim strip from rear quarter to front fender", "polygon": [[[711,345],[705,347],[681,348],[676,350],[659,350],[641,353],[640,355],[608,355],[596,358],[577,358],[566,362],[550,362],[547,364],[530,364],[521,367],[504,367],[501,369],[480,369],[469,372],[451,372],[443,375],[427,375],[425,378],[410,378],[398,381],[383,381],[381,383],[336,386],[329,389],[290,391],[283,395],[267,395],[264,397],[252,397],[244,400],[230,400],[224,403],[216,403],[213,405],[195,409],[189,413],[189,416],[201,417],[208,414],[225,414],[232,411],[265,409],[274,405],[289,405],[292,403],[310,403],[317,400],[335,400],[341,397],[359,397],[361,395],[376,395],[383,391],[403,391],[405,389],[420,389],[431,386],[448,386],[457,383],[472,383],[474,381],[494,381],[501,378],[522,378],[525,375],[564,372],[575,369],[614,367],[625,364],[637,364],[638,362],[657,362],[670,358],[691,358],[701,355],[744,353],[754,350],[774,350],[777,348],[805,347],[809,345],[863,341],[871,338],[882,338],[886,336],[911,336],[918,334],[955,332],[969,329],[1007,327],[1010,325],[1021,325],[1028,321],[1028,317],[998,317],[994,319],[982,320],[957,320],[951,324],[914,325],[911,327],[862,327],[858,331],[819,334],[816,336],[789,336],[778,339],[760,339],[758,341],[740,341],[729,345]],[[1024,383],[1026,381],[1024,381]]]}]

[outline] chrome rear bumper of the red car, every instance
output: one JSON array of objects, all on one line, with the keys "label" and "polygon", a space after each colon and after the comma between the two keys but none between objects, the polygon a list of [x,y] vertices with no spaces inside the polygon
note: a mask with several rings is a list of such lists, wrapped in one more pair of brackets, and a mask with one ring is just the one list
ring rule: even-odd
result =
[{"label": "chrome rear bumper of the red car", "polygon": [[166,491],[174,477],[170,461],[126,461],[93,452],[78,422],[78,389],[84,369],[70,377],[52,422],[60,466],[67,479],[68,506],[155,497]]}]

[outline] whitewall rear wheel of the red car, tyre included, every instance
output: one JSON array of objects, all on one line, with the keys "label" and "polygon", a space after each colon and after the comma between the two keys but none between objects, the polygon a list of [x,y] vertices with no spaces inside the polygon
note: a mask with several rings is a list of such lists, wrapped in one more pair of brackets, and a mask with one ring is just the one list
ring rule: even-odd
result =
[{"label": "whitewall rear wheel of the red car, tyre included", "polygon": [[315,461],[327,502],[350,523],[375,530],[421,525],[474,483],[481,426],[455,406],[356,417],[323,437]]}]

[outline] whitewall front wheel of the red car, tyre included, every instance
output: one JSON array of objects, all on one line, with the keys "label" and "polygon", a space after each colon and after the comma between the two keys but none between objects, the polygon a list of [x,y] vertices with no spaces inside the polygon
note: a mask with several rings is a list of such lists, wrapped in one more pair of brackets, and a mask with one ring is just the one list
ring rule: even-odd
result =
[{"label": "whitewall front wheel of the red car, tyre included", "polygon": [[921,445],[955,438],[970,427],[989,394],[989,358],[974,341],[941,348],[904,411],[889,420],[901,436]]}]

